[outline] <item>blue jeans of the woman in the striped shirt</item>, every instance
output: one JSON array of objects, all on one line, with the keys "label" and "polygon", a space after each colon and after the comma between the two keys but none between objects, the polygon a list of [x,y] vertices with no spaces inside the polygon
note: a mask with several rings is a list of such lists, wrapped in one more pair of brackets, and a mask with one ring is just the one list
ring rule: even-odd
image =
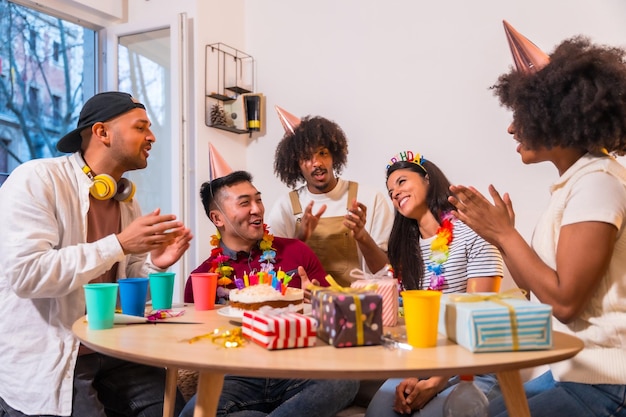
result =
[{"label": "blue jeans of the woman in the striped shirt", "polygon": [[[370,405],[367,407],[365,417],[398,417],[404,414],[396,413],[393,410],[394,399],[396,396],[396,387],[402,378],[388,379],[378,392],[372,398]],[[441,417],[443,414],[443,403],[450,392],[459,383],[459,377],[455,376],[448,380],[448,385],[439,394],[434,396],[419,411],[413,412],[412,416],[419,417]],[[476,375],[474,384],[480,389],[488,399],[497,398],[500,395],[498,381],[494,374]]]}]

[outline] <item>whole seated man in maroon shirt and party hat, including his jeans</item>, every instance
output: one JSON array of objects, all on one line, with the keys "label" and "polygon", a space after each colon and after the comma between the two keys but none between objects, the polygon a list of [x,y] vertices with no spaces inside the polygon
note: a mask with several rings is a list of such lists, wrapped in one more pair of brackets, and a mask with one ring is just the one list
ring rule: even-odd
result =
[{"label": "whole seated man in maroon shirt and party hat, including his jeans", "polygon": [[[230,172],[228,164],[212,149],[211,181],[202,184],[200,196],[207,216],[217,227],[211,256],[193,272],[214,271],[220,275],[218,292],[228,291],[248,275],[259,271],[284,271],[292,276],[288,285],[301,287],[308,280],[328,285],[326,272],[315,254],[297,239],[274,237],[265,227],[261,192],[245,171]],[[270,266],[271,265],[271,266]],[[269,267],[269,268],[268,268]],[[192,273],[193,273],[192,272]],[[250,278],[251,279],[251,278]],[[246,285],[246,281],[243,281]],[[218,293],[219,296],[219,293]],[[185,287],[185,302],[193,302],[191,279]],[[332,417],[349,405],[359,382],[252,378],[226,375],[218,403],[218,415],[284,415]],[[192,397],[180,417],[191,417]]]}]

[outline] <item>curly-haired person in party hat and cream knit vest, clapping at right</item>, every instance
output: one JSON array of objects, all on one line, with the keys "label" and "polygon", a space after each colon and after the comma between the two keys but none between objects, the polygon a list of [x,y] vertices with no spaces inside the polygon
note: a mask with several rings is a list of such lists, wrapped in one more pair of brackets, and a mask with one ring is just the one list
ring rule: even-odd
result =
[{"label": "curly-haired person in party hat and cream knit vest, clapping at right", "polygon": [[[584,342],[526,388],[530,414],[626,415],[626,49],[563,41],[548,57],[505,22],[517,70],[494,87],[513,111],[508,132],[525,164],[550,162],[559,178],[531,244],[514,227],[508,194],[488,201],[452,186],[455,214],[502,252],[511,276],[552,305],[554,330]],[[538,58],[538,59],[535,59]],[[490,415],[506,416],[503,401]]]}]

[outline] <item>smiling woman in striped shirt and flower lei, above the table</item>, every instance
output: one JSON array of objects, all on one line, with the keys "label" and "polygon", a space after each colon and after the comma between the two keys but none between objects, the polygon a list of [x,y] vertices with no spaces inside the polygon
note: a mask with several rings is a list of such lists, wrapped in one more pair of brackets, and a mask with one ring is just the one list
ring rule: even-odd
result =
[{"label": "smiling woman in striped shirt and flower lei, above the table", "polygon": [[403,287],[444,293],[497,291],[502,257],[452,216],[446,176],[419,154],[398,155],[387,168],[387,190],[396,210],[389,259]]}]

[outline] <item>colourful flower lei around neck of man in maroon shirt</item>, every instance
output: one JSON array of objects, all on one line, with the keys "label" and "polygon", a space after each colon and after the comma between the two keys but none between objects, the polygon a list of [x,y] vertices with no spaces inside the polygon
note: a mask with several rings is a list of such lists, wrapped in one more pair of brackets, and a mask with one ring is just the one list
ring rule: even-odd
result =
[{"label": "colourful flower lei around neck of man in maroon shirt", "polygon": [[[218,275],[217,285],[228,286],[234,281],[231,278],[233,274],[233,267],[230,266],[230,257],[224,255],[224,249],[220,246],[222,236],[217,231],[211,236],[211,245],[214,248],[211,250],[211,268],[209,272],[215,272]],[[263,251],[259,257],[259,262],[262,263],[261,270],[270,272],[274,270],[274,262],[276,260],[276,250],[272,248],[272,242],[274,241],[274,235],[267,230],[267,225],[263,224],[263,239],[259,242],[259,249]]]}]

